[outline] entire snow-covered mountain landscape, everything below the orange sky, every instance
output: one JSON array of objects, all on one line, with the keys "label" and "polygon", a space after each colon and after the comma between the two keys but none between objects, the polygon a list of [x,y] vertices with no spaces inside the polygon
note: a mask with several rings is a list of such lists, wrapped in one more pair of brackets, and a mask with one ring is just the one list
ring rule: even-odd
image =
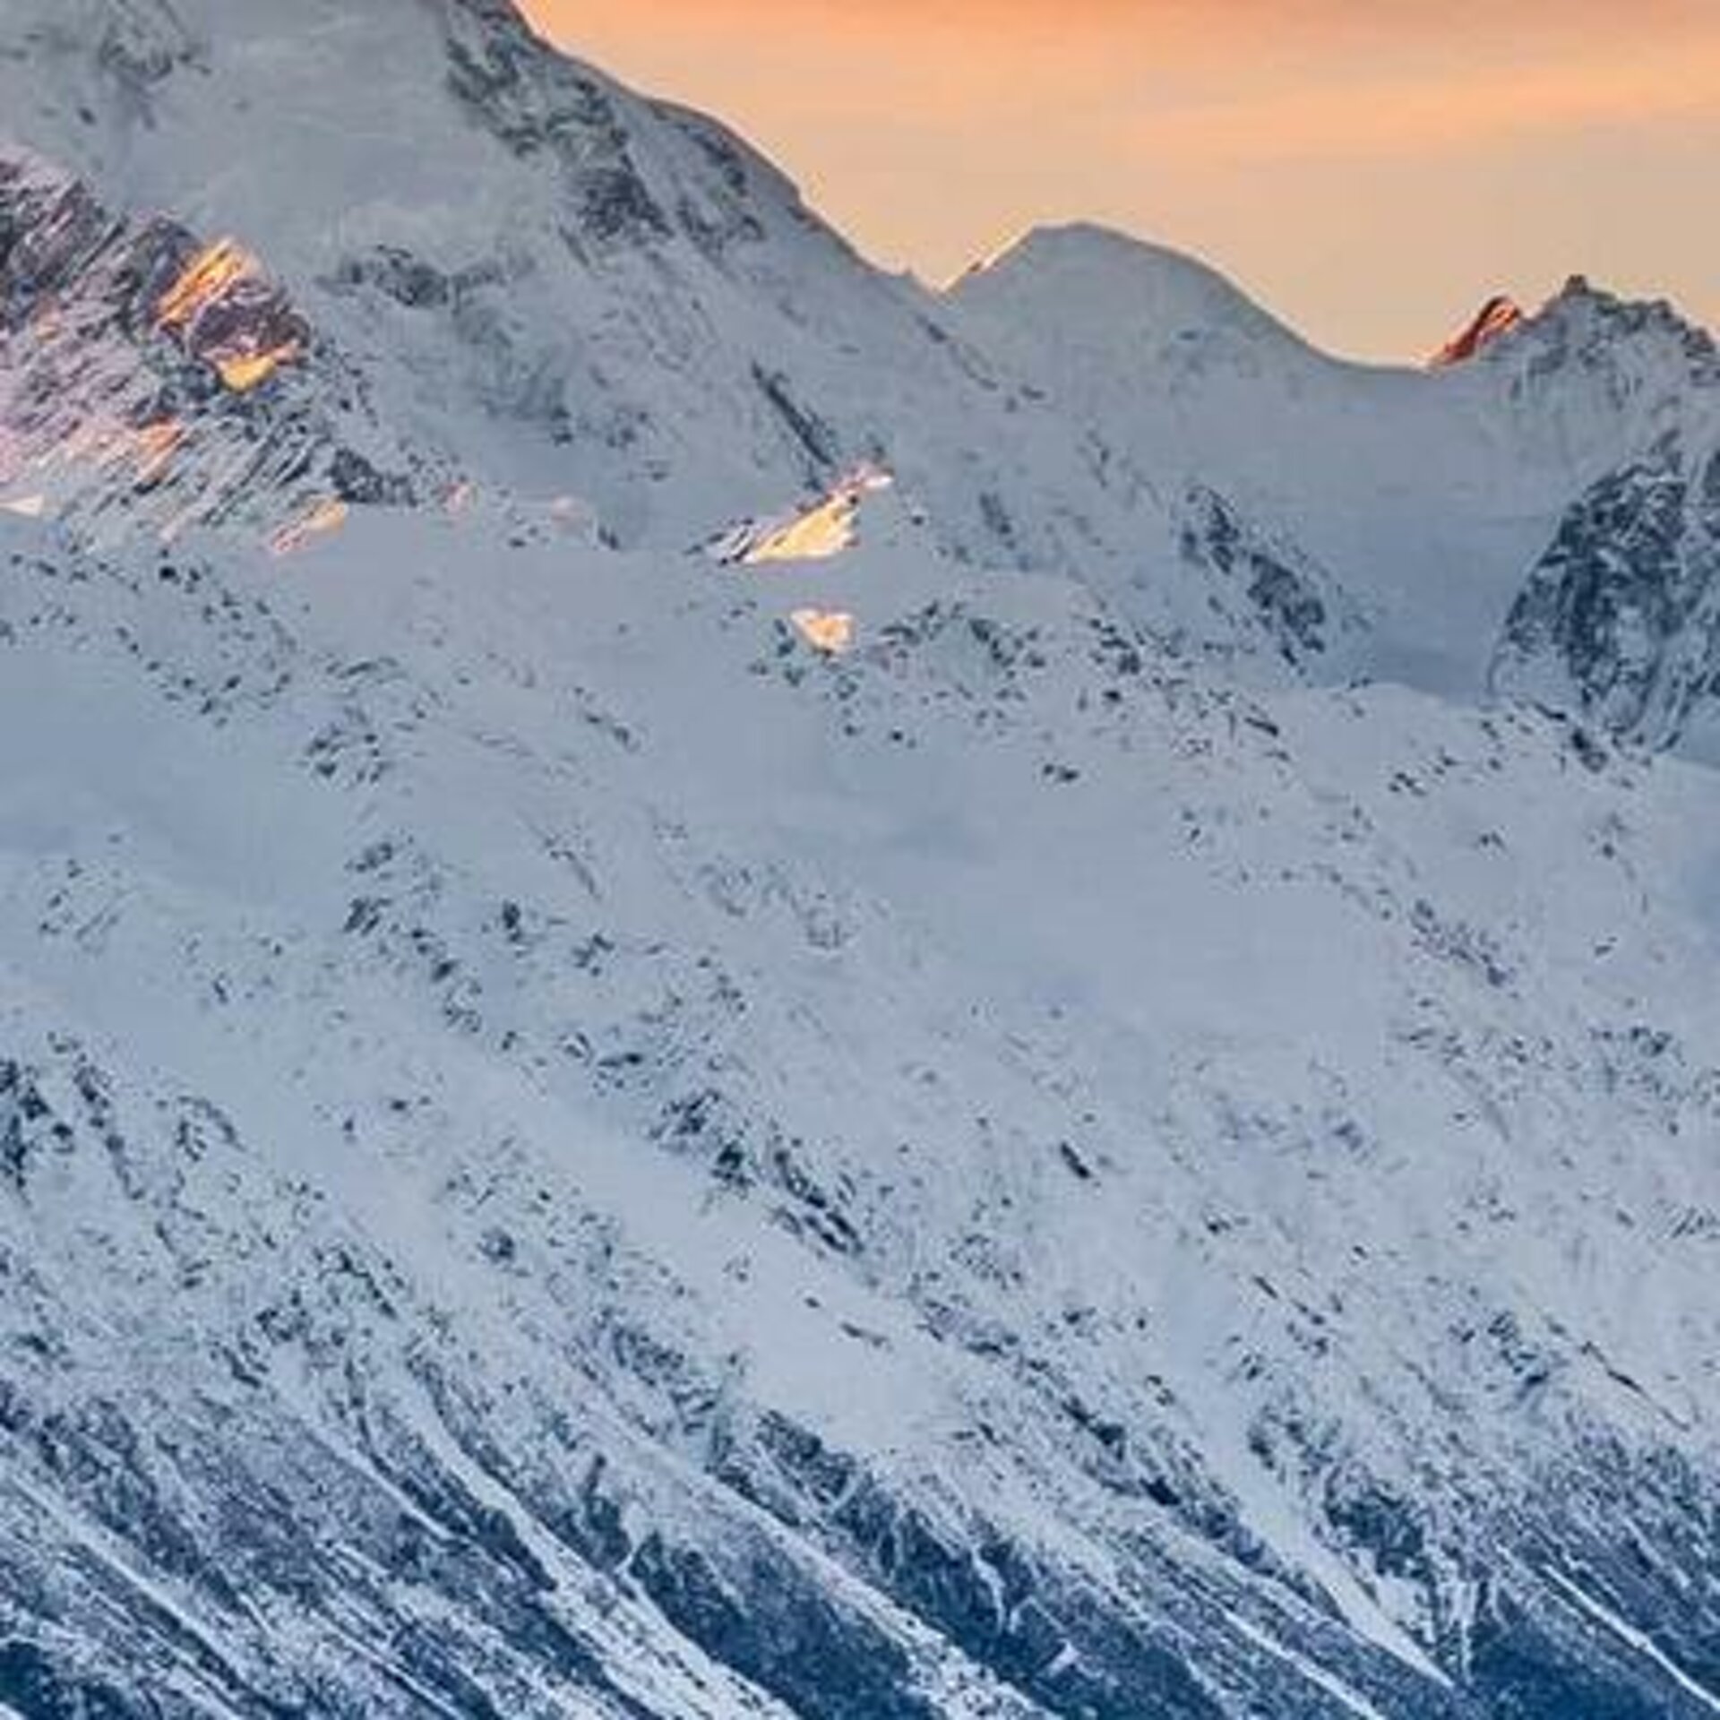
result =
[{"label": "entire snow-covered mountain landscape, everything below the orange sky", "polygon": [[0,9],[0,1717],[1720,1708],[1706,337]]}]

